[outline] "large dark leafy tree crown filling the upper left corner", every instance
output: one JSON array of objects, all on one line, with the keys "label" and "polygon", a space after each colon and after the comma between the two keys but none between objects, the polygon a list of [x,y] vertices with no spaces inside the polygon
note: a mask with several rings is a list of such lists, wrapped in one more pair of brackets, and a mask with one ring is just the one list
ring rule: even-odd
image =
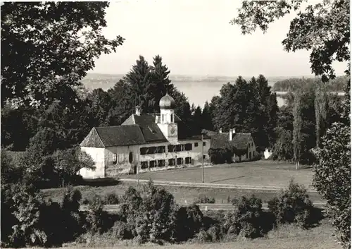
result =
[{"label": "large dark leafy tree crown filling the upper left corner", "polygon": [[94,68],[94,60],[123,42],[120,36],[108,40],[101,34],[108,6],[107,2],[4,3],[1,106],[5,102],[45,106],[64,96],[62,88],[79,86]]}]

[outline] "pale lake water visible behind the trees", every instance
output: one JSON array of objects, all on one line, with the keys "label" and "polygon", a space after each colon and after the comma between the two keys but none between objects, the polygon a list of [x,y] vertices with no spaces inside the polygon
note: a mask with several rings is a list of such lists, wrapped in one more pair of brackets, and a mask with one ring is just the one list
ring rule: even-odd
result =
[{"label": "pale lake water visible behind the trees", "polygon": [[[195,106],[201,106],[203,108],[204,103],[206,101],[210,102],[210,100],[220,94],[220,89],[224,83],[222,82],[202,82],[202,81],[172,81],[172,83],[177,87],[178,90],[184,92],[184,94],[188,97],[189,103],[194,104]],[[88,89],[96,89],[101,88],[104,91],[108,90],[109,88],[113,87],[115,83],[84,83],[84,85]],[[274,85],[274,82],[269,82],[269,85]],[[277,104],[279,107],[284,105],[284,99],[282,97],[277,97]]]}]

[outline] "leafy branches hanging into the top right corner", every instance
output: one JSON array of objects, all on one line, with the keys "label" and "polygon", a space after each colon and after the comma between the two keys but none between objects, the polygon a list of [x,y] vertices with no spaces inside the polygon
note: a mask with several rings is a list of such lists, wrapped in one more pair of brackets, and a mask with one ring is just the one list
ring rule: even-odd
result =
[{"label": "leafy branches hanging into the top right corner", "polygon": [[[236,18],[243,35],[257,28],[263,32],[276,19],[291,11],[299,11],[303,1],[243,1]],[[349,61],[350,22],[349,1],[322,1],[308,4],[291,20],[287,38],[282,41],[286,51],[310,50],[310,68],[323,82],[335,78],[332,61]]]}]

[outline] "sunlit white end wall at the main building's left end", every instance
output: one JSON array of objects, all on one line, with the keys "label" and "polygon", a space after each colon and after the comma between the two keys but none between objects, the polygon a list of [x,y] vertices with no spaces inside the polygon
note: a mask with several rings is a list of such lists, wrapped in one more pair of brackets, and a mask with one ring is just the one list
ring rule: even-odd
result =
[{"label": "sunlit white end wall at the main building's left end", "polygon": [[82,152],[89,154],[95,162],[95,171],[81,169],[79,174],[83,178],[103,178],[105,177],[104,148],[81,147]]}]

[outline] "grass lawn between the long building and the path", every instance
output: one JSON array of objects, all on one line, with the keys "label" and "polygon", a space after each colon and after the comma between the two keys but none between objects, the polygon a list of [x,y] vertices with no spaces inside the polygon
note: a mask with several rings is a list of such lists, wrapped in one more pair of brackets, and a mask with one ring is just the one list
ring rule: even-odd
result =
[{"label": "grass lawn between the long building and the path", "polygon": [[[121,178],[137,178],[137,176],[120,176]],[[201,167],[175,169],[168,171],[151,171],[139,175],[141,179],[154,181],[185,181],[201,183]],[[288,185],[294,178],[297,183],[311,187],[313,171],[300,169],[296,171],[294,164],[272,161],[241,162],[222,164],[204,169],[206,183],[244,184],[256,186]]]}]

